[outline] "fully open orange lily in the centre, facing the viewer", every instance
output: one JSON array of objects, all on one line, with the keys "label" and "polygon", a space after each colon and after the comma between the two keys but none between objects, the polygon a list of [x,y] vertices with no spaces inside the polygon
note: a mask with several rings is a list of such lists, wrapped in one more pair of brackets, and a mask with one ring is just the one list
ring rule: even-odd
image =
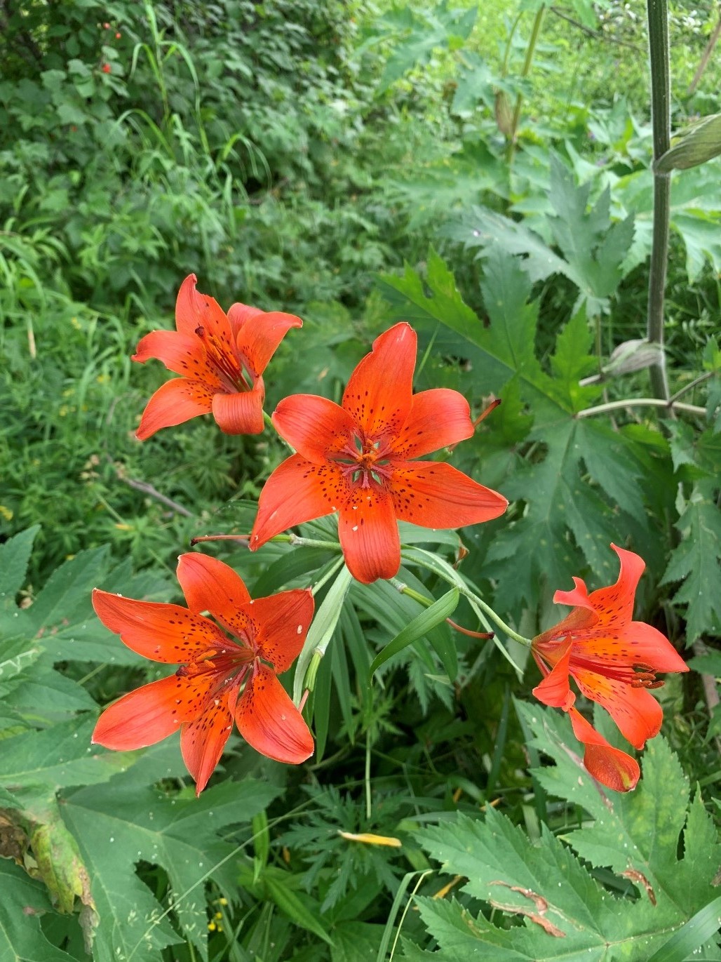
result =
[{"label": "fully open orange lily in the centre, facing the viewer", "polygon": [[416,337],[410,324],[385,331],[351,374],[337,405],[314,394],[286,397],[273,424],[297,454],[261,491],[250,548],[286,528],[338,513],[348,569],[365,584],[401,565],[396,519],[457,528],[498,518],[502,494],[437,461],[413,461],[470,438],[468,402],[458,391],[412,392]]}]

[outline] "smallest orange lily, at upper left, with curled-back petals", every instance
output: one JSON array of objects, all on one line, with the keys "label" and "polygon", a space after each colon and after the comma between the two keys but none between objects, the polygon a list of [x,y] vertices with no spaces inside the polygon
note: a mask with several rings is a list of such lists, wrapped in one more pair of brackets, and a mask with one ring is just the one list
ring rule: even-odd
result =
[{"label": "smallest orange lily, at upper left, with curled-back petals", "polygon": [[182,375],[167,381],[148,401],[136,436],[144,441],[162,427],[212,413],[226,434],[260,434],[265,386],[261,374],[300,317],[234,304],[228,314],[195,290],[189,274],[178,292],[175,331],[151,331],[133,360],[157,358]]}]

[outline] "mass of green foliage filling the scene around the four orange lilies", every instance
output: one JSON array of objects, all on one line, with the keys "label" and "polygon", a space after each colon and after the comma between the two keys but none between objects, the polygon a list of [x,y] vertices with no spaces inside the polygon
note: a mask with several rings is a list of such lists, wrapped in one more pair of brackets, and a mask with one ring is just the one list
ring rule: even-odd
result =
[{"label": "mass of green foliage filling the scene around the four orange lilies", "polygon": [[[712,678],[669,680],[678,760],[652,742],[639,789],[609,797],[564,717],[514,715],[528,651],[472,637],[495,627],[475,595],[511,632],[558,620],[571,576],[615,577],[613,540],[648,564],[636,617],[678,646],[705,638],[692,667],[721,673],[719,162],[673,177],[667,360],[690,408],[634,407],[651,146],[645,55],[611,39],[645,50],[643,24],[615,2],[549,8],[529,71],[537,10],[2,5],[3,962],[719,957],[717,838],[701,794],[688,802],[719,777]],[[706,37],[672,13],[681,83]],[[675,89],[679,127],[721,109],[713,80]],[[134,439],[166,373],[130,356],[172,328],[190,271],[225,308],[303,316],[268,411],[291,392],[339,400],[374,336],[410,320],[417,390],[459,390],[474,416],[502,396],[453,463],[512,501],[460,536],[401,525],[394,584],[350,583],[334,519],[301,526],[322,546],[204,545],[254,595],[314,586],[293,692],[310,690],[316,752],[292,769],[233,738],[199,799],[176,741],[89,741],[99,707],[159,676],[91,589],[177,599],[179,551],[247,534],[286,456],[211,418]],[[466,873],[456,901],[431,898],[441,848]]]}]

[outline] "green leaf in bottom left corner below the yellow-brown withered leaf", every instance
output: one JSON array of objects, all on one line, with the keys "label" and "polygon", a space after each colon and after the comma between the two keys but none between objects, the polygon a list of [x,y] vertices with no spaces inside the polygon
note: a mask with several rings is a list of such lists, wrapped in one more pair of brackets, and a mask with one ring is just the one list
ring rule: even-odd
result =
[{"label": "green leaf in bottom left corner below the yellow-brown withered leaf", "polygon": [[40,917],[51,911],[44,885],[0,859],[0,958],[3,962],[77,962],[45,938]]}]

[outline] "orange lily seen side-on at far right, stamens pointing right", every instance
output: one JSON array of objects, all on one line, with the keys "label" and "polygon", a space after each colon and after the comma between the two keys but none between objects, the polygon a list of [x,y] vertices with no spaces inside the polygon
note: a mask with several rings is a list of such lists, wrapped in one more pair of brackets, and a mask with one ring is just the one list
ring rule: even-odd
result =
[{"label": "orange lily seen side-on at far right, stamens pointing right", "polygon": [[611,747],[573,707],[569,676],[581,693],[597,701],[635,748],[659,734],[663,717],[649,689],[660,688],[657,671],[688,671],[681,655],[652,625],[634,621],[634,595],[646,567],[633,551],[610,545],[621,561],[615,585],[588,595],[581,578],[571,592],[556,592],[556,604],[573,605],[559,624],[537,635],[535,662],[544,675],[534,695],[545,705],[568,712],[573,732],[585,746],[584,765],[594,778],[616,792],[628,792],[638,781],[638,763]]}]

